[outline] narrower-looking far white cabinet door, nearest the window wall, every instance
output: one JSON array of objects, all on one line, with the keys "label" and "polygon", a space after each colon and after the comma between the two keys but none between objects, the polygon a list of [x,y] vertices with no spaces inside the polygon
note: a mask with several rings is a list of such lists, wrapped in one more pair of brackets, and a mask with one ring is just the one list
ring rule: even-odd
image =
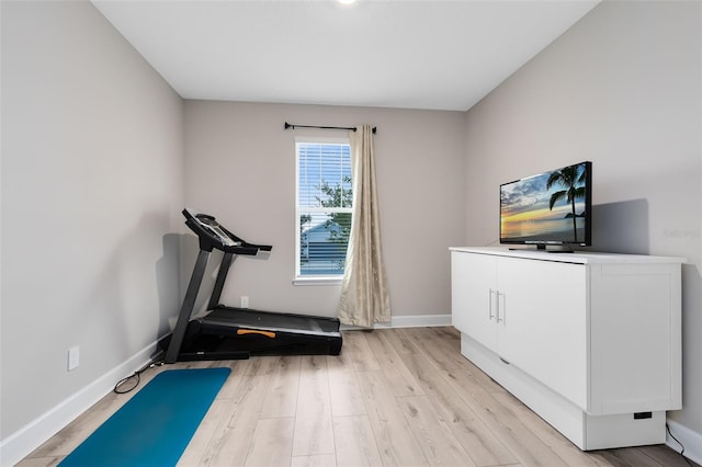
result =
[{"label": "narrower-looking far white cabinet door, nearest the window wall", "polygon": [[451,253],[453,326],[488,349],[497,350],[496,257]]}]

